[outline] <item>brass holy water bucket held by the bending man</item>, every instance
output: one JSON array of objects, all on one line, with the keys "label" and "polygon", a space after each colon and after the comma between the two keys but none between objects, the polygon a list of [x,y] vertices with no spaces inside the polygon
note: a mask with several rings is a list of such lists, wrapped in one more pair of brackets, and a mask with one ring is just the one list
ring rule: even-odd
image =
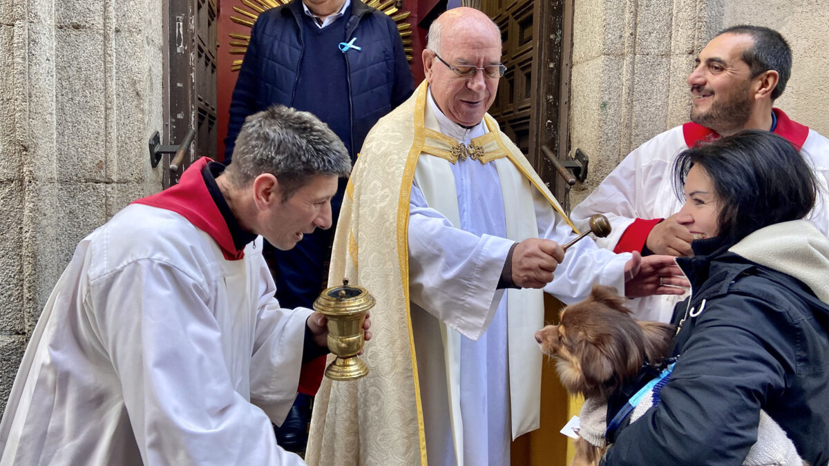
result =
[{"label": "brass holy water bucket held by the bending man", "polygon": [[366,289],[342,286],[326,289],[313,303],[313,308],[327,318],[328,349],[337,356],[328,365],[325,376],[332,381],[354,381],[368,374],[368,366],[357,357],[365,342],[363,322],[375,299]]}]

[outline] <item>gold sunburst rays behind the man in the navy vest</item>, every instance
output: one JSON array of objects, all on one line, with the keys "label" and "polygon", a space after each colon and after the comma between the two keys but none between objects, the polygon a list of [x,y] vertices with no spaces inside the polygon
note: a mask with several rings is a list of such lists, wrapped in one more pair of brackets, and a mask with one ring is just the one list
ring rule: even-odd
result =
[{"label": "gold sunburst rays behind the man in the navy vest", "polygon": [[[249,9],[245,9],[244,7],[233,7],[233,11],[242,15],[242,17],[231,16],[230,20],[236,24],[241,24],[242,26],[254,27],[256,19],[259,18],[259,13],[269,10],[270,8],[279,7],[289,1],[290,0],[240,0],[240,2],[242,2],[242,4]],[[397,32],[400,32],[400,38],[403,39],[403,50],[406,52],[406,60],[411,61],[412,40],[410,36],[412,31],[410,23],[406,22],[406,18],[409,17],[411,12],[403,12],[399,10],[395,7],[395,0],[386,0],[385,2],[381,2],[381,0],[363,0],[363,2],[369,7],[375,7],[381,12],[384,12],[386,15],[390,16],[395,23],[397,23]],[[245,36],[245,34],[230,32],[228,36],[230,36],[230,41],[228,42],[230,45],[230,54],[245,55],[245,52],[248,51],[248,46],[250,45],[250,35]],[[233,64],[230,66],[230,70],[238,71],[241,67],[242,60],[234,60]]]}]

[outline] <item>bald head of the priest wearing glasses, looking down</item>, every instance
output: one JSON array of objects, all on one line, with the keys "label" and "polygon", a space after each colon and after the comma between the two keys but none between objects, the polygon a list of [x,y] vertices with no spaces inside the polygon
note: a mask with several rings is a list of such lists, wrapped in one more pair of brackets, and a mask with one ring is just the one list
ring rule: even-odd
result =
[{"label": "bald head of the priest wearing glasses, looking down", "polygon": [[423,64],[439,109],[457,124],[478,124],[506,70],[501,63],[501,31],[474,8],[453,8],[429,27]]}]

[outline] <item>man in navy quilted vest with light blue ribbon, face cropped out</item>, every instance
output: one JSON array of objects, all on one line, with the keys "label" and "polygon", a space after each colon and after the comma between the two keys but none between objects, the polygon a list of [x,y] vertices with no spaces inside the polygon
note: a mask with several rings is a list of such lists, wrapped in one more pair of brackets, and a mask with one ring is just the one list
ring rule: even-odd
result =
[{"label": "man in navy quilted vest with light blue ribbon, face cropped out", "polygon": [[[245,118],[271,104],[308,111],[327,124],[356,160],[372,126],[412,92],[412,76],[395,22],[361,0],[293,0],[259,15],[230,103],[225,164],[232,163]],[[336,221],[345,191],[332,201]],[[310,308],[326,279],[332,232],[306,235],[293,250],[265,245],[279,302]],[[277,430],[286,449],[305,448],[308,399],[299,396]]]}]

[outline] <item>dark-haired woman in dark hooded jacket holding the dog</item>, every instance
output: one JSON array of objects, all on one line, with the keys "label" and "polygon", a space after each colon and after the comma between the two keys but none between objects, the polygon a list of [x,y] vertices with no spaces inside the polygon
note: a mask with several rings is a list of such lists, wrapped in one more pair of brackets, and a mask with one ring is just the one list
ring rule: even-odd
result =
[{"label": "dark-haired woman in dark hooded jacket holding the dog", "polygon": [[638,386],[608,400],[603,464],[742,464],[761,410],[800,458],[827,464],[829,240],[801,220],[818,194],[811,168],[785,139],[744,131],[686,150],[674,172],[696,238],[676,259],[691,281],[672,319],[676,362],[636,422],[623,406]]}]

